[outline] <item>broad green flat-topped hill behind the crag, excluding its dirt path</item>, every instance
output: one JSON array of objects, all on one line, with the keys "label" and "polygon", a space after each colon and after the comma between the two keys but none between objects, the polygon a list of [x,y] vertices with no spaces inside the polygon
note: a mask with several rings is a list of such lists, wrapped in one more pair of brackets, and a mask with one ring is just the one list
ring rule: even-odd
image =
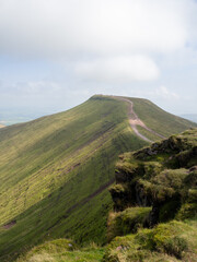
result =
[{"label": "broad green flat-topped hill behind the crag, excluding its dirt path", "polygon": [[[162,135],[195,126],[148,100],[131,100],[141,120]],[[114,182],[117,156],[147,144],[129,126],[128,104],[105,96],[1,129],[1,261],[59,237],[104,243],[112,209],[107,187]]]}]

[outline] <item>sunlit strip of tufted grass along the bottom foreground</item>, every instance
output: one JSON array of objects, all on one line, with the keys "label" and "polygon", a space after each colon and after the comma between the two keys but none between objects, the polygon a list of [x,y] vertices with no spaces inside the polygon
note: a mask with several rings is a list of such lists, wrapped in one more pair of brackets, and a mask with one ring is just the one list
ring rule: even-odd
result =
[{"label": "sunlit strip of tufted grass along the bottom foreground", "polygon": [[[136,234],[116,237],[103,248],[90,245],[85,248],[74,247],[73,250],[68,250],[69,241],[58,239],[33,248],[15,262],[194,262],[197,248],[196,224],[196,221],[185,223],[172,221],[159,224],[152,229],[140,228]],[[183,257],[178,259],[164,250],[166,247],[171,247],[171,251],[178,253],[181,247],[175,239],[182,240],[179,242],[183,245],[182,248],[184,248],[183,239],[189,245]]]}]

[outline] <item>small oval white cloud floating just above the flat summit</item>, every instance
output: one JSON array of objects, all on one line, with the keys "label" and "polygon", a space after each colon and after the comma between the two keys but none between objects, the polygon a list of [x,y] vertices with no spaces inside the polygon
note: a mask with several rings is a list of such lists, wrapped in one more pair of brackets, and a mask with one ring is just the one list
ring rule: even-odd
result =
[{"label": "small oval white cloud floating just above the flat summit", "polygon": [[158,79],[157,64],[144,56],[113,57],[86,62],[74,67],[78,75],[86,80],[109,83],[129,83]]}]

